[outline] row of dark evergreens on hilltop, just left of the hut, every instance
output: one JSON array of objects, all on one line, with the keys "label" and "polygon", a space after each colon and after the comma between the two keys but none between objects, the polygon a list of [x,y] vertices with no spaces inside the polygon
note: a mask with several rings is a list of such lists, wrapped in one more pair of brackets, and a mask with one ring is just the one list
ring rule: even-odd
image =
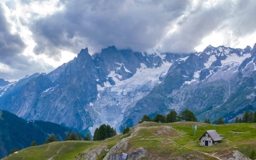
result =
[{"label": "row of dark evergreens on hilltop, just left of the hut", "polygon": [[150,119],[148,115],[144,115],[142,116],[139,123],[142,123],[144,121],[147,121],[147,122],[151,121],[151,122],[158,122],[158,123],[172,123],[172,122],[178,122],[182,120],[196,122],[197,118],[195,114],[189,109],[183,110],[179,115],[175,110],[171,110],[166,116],[157,113],[153,119]]}]

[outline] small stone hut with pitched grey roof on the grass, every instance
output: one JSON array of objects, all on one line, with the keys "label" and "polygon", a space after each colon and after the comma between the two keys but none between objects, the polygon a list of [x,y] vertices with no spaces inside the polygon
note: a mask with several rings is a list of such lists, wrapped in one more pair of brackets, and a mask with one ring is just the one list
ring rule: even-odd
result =
[{"label": "small stone hut with pitched grey roof on the grass", "polygon": [[220,142],[222,139],[215,130],[206,131],[200,138],[200,146],[212,146],[214,143]]}]

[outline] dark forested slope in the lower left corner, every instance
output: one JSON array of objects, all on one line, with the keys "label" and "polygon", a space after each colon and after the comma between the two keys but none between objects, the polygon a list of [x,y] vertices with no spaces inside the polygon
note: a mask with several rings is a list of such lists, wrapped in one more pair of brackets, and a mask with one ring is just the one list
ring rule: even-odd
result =
[{"label": "dark forested slope in the lower left corner", "polygon": [[13,148],[29,147],[33,140],[41,145],[50,134],[64,140],[68,132],[72,130],[59,124],[44,121],[27,122],[8,111],[0,110],[0,158],[7,156]]}]

